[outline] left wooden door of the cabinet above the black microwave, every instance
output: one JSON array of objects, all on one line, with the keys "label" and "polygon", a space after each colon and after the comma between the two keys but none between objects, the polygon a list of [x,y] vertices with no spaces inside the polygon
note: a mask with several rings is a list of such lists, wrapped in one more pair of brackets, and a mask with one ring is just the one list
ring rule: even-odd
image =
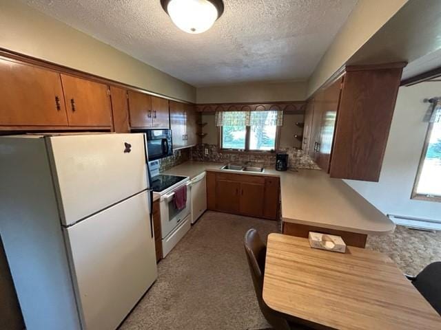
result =
[{"label": "left wooden door of the cabinet above the black microwave", "polygon": [[138,91],[128,91],[130,126],[134,128],[151,128],[152,97]]}]

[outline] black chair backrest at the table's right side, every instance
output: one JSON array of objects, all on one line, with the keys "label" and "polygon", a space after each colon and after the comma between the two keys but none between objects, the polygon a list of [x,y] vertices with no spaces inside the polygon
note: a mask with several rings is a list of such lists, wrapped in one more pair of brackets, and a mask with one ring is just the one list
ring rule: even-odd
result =
[{"label": "black chair backrest at the table's right side", "polygon": [[441,261],[427,265],[412,284],[441,315]]}]

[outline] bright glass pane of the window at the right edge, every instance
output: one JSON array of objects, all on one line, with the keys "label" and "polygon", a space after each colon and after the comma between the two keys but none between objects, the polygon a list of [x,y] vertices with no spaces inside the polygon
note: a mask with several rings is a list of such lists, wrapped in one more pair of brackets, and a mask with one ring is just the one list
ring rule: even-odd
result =
[{"label": "bright glass pane of the window at the right edge", "polygon": [[441,122],[430,124],[427,152],[420,166],[417,195],[441,197]]}]

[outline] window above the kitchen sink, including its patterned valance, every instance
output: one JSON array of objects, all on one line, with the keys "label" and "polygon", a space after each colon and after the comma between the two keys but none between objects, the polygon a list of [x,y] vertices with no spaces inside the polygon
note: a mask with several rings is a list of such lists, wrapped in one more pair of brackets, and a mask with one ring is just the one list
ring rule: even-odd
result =
[{"label": "window above the kitchen sink, including its patterned valance", "polygon": [[276,149],[282,111],[222,111],[216,113],[220,147],[230,150],[271,151]]}]

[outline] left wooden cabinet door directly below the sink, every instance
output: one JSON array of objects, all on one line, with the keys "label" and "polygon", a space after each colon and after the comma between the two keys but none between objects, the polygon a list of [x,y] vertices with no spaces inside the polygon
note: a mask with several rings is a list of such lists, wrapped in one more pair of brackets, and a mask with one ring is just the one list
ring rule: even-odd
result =
[{"label": "left wooden cabinet door directly below the sink", "polygon": [[240,182],[216,179],[216,210],[238,213]]}]

